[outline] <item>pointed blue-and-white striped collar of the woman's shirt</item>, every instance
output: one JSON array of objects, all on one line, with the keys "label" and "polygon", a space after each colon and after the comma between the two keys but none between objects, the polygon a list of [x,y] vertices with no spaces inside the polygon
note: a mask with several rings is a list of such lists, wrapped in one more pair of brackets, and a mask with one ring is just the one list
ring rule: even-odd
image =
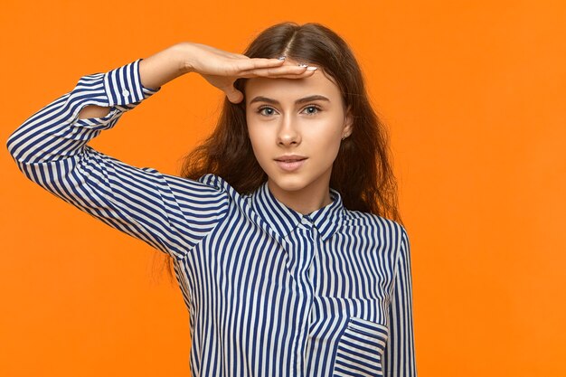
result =
[{"label": "pointed blue-and-white striped collar of the woman's shirt", "polygon": [[340,193],[330,188],[330,198],[332,203],[304,215],[279,202],[269,191],[266,181],[252,194],[251,203],[254,210],[259,212],[259,216],[267,221],[281,238],[286,238],[301,221],[305,221],[312,223],[321,238],[326,240],[338,230],[344,218],[344,204]]}]

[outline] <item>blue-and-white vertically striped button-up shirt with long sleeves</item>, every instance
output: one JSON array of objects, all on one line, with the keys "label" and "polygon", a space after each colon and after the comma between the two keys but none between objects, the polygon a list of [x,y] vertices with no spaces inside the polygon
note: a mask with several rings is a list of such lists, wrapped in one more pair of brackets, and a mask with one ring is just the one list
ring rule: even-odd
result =
[{"label": "blue-and-white vertically striped button-up shirt with long sleeves", "polygon": [[[410,243],[398,222],[332,203],[302,214],[267,183],[241,194],[88,146],[156,91],[139,61],[80,78],[7,147],[62,200],[170,255],[190,313],[193,376],[416,376]],[[79,119],[87,105],[109,107]]]}]

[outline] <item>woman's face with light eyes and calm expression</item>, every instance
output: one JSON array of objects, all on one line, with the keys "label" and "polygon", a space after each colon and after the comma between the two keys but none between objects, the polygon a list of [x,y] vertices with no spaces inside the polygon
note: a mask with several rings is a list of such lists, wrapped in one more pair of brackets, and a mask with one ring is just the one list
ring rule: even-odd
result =
[{"label": "woman's face with light eyes and calm expression", "polygon": [[251,145],[272,192],[327,193],[352,123],[335,83],[319,69],[305,79],[250,79],[245,94]]}]

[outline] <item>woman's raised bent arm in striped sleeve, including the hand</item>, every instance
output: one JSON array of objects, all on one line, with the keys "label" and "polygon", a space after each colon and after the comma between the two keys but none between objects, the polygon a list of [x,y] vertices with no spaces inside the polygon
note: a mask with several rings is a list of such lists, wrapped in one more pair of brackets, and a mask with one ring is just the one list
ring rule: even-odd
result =
[{"label": "woman's raised bent arm in striped sleeve, including the hand", "polygon": [[127,165],[88,142],[166,82],[191,71],[236,101],[232,83],[238,77],[308,74],[276,59],[251,60],[183,42],[81,77],[73,90],[27,118],[8,138],[7,148],[34,183],[109,226],[183,258],[227,212],[227,194],[205,182]]}]

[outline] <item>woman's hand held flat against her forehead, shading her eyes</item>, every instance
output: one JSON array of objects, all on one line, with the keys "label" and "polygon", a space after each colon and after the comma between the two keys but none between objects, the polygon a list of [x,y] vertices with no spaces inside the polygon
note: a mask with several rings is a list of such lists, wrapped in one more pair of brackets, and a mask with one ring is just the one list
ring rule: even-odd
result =
[{"label": "woman's hand held flat against her forehead, shading her eyes", "polygon": [[182,42],[186,57],[186,72],[199,73],[205,80],[226,93],[232,103],[244,98],[240,90],[234,88],[234,81],[240,78],[269,77],[273,79],[303,79],[311,76],[316,68],[306,65],[285,64],[279,59],[250,59],[232,52],[225,52],[200,43]]}]

